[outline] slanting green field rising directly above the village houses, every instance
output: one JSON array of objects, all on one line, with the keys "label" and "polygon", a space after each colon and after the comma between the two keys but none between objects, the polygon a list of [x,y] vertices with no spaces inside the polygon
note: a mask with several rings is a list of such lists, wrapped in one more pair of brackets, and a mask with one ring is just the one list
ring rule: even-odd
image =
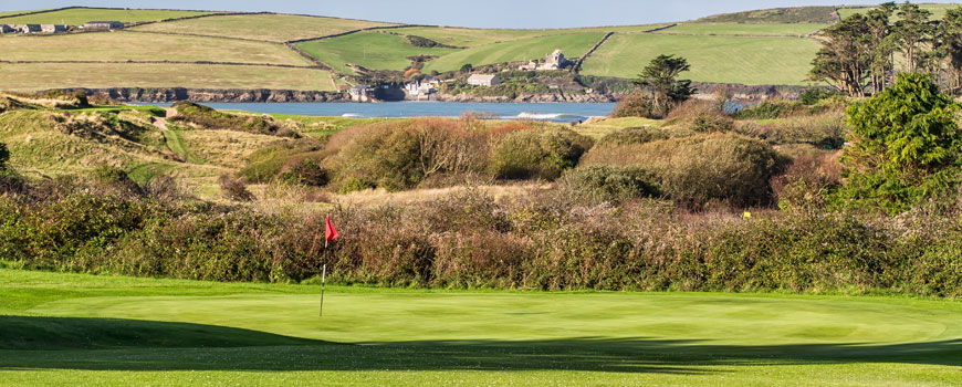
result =
[{"label": "slanting green field rising directly above the village houses", "polygon": [[467,63],[478,66],[502,62],[526,62],[534,59],[543,60],[545,55],[556,49],[562,50],[565,56],[577,57],[598,43],[602,36],[604,36],[603,33],[578,33],[482,45],[428,62],[425,71],[454,71]]}]

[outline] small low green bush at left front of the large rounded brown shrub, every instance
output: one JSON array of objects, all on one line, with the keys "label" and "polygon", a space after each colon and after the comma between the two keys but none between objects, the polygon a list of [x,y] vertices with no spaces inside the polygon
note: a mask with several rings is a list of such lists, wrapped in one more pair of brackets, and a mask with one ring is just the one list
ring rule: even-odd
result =
[{"label": "small low green bush at left front of the large rounded brown shrub", "polygon": [[574,203],[596,206],[658,197],[657,181],[655,174],[637,167],[590,166],[565,174],[557,190]]}]

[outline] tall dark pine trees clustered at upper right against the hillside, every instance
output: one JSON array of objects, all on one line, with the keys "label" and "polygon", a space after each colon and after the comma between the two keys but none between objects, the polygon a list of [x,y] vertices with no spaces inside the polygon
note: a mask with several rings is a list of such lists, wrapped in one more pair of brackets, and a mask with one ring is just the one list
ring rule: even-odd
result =
[{"label": "tall dark pine trees clustered at upper right against the hillside", "polygon": [[928,73],[943,88],[962,91],[962,7],[941,19],[913,3],[887,2],[823,31],[809,81],[854,97],[879,93],[898,72]]}]

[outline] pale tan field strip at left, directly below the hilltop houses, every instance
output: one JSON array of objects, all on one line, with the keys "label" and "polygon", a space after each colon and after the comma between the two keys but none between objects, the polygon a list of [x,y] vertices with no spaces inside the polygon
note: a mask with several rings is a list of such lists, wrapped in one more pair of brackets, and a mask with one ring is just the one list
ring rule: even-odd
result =
[{"label": "pale tan field strip at left, directly below the hilltop houses", "polygon": [[129,32],[4,38],[0,60],[312,64],[282,44]]}]

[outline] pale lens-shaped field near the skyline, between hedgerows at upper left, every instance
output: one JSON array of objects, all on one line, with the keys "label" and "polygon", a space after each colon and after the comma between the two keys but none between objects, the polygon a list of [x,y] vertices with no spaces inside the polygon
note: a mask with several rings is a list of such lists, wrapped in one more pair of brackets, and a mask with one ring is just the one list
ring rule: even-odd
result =
[{"label": "pale lens-shaped field near the skyline, between hedgerows at upper left", "polygon": [[136,29],[140,31],[186,32],[201,35],[286,42],[379,25],[391,24],[292,14],[238,14],[156,23]]}]

